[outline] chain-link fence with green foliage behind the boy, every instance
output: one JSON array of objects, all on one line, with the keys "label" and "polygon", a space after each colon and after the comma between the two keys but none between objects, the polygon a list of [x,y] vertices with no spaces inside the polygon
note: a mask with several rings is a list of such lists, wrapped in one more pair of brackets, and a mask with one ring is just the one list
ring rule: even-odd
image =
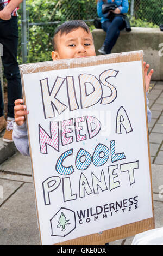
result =
[{"label": "chain-link fence with green foliage behind the boy", "polygon": [[[27,0],[26,10],[27,39],[22,29],[22,41],[27,45],[27,62],[51,59],[52,37],[61,22],[84,20],[93,29],[97,16],[96,0]],[[129,0],[128,16],[131,26],[157,27],[163,23],[163,0]]]}]

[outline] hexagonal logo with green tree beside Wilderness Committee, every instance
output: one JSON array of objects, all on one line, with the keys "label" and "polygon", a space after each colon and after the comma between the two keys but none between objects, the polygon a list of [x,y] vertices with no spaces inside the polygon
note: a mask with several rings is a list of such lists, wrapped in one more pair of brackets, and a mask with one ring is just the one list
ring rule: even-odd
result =
[{"label": "hexagonal logo with green tree beside Wilderness Committee", "polygon": [[50,222],[52,236],[67,236],[76,229],[75,212],[64,207],[55,213]]}]

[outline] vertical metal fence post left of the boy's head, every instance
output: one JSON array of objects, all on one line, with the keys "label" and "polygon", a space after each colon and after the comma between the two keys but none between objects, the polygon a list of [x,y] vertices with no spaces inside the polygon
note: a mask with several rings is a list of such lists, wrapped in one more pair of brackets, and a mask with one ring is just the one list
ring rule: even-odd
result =
[{"label": "vertical metal fence post left of the boy's head", "polygon": [[27,62],[27,14],[26,0],[23,0],[21,6],[21,23],[22,23],[22,62]]}]

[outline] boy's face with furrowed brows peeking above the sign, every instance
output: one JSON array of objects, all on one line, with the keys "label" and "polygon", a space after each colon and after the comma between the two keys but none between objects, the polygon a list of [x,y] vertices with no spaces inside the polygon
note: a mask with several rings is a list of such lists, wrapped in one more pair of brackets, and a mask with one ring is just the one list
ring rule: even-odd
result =
[{"label": "boy's face with furrowed brows peeking above the sign", "polygon": [[57,49],[52,52],[53,61],[56,59],[81,58],[95,56],[92,34],[79,27],[68,34],[57,34],[55,37]]}]

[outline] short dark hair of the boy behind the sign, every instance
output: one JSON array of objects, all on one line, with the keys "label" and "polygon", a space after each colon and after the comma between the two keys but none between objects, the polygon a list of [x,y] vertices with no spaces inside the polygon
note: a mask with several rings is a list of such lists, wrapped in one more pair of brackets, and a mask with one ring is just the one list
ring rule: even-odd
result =
[{"label": "short dark hair of the boy behind the sign", "polygon": [[64,33],[68,34],[72,30],[75,30],[79,27],[83,28],[87,33],[90,32],[89,27],[82,20],[66,21],[66,22],[62,23],[57,29],[55,29],[54,37],[53,37],[53,49],[54,49],[54,51],[56,50],[55,35],[57,35],[59,32],[60,32],[60,35],[62,35]]}]

